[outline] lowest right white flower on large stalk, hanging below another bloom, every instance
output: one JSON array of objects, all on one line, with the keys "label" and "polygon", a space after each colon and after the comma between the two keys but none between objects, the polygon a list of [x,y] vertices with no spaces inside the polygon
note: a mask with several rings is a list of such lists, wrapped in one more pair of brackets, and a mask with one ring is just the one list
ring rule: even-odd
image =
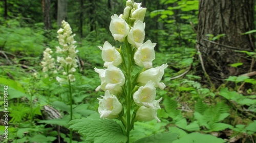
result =
[{"label": "lowest right white flower on large stalk, hanging below another bloom", "polygon": [[158,108],[147,108],[145,106],[141,106],[137,113],[135,120],[136,121],[152,121],[153,119],[156,119],[157,122],[161,122],[159,118],[157,117],[157,110]]}]

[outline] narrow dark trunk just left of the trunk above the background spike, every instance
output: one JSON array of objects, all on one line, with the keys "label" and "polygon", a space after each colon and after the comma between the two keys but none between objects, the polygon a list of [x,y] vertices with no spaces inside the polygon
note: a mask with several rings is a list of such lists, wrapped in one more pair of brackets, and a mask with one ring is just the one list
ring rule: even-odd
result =
[{"label": "narrow dark trunk just left of the trunk above the background spike", "polygon": [[42,0],[44,1],[44,23],[45,29],[52,29],[51,25],[51,0]]}]

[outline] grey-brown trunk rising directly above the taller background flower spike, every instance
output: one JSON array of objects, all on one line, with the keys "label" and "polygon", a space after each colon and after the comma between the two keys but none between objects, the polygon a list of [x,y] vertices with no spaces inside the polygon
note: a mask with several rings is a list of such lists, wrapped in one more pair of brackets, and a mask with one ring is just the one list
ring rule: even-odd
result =
[{"label": "grey-brown trunk rising directly above the taller background flower spike", "polygon": [[58,27],[61,27],[61,21],[67,21],[68,13],[68,1],[67,0],[58,0],[58,15],[57,15],[57,24]]}]

